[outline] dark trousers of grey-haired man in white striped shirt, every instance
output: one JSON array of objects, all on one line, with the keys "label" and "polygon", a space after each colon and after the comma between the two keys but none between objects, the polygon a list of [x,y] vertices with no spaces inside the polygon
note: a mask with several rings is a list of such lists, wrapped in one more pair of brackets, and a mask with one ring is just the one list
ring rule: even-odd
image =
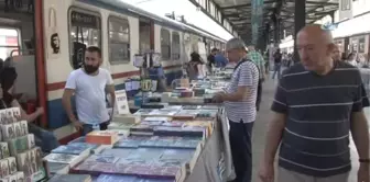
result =
[{"label": "dark trousers of grey-haired man in white striped shirt", "polygon": [[230,147],[237,178],[233,182],[252,180],[252,128],[254,123],[229,122]]}]

